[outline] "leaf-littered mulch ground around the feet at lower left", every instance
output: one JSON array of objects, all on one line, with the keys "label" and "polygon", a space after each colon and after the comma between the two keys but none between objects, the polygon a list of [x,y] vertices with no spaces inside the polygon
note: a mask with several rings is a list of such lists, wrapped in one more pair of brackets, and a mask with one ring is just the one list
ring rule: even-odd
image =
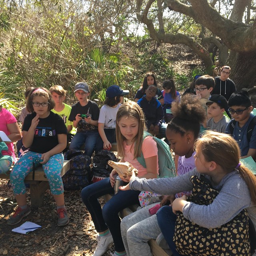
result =
[{"label": "leaf-littered mulch ground around the feet at lower left", "polygon": [[[18,256],[89,256],[97,246],[97,232],[94,229],[89,212],[86,210],[80,191],[65,191],[65,205],[70,223],[64,227],[57,226],[56,206],[50,190],[44,197],[44,206],[32,209],[29,216],[20,224],[9,226],[6,220],[16,207],[12,188],[8,180],[0,179],[0,255]],[[30,202],[30,191],[27,189],[27,201]],[[102,201],[104,203],[104,201]],[[42,226],[27,235],[12,232],[13,228],[25,221]],[[113,245],[104,256],[114,252]]]}]

